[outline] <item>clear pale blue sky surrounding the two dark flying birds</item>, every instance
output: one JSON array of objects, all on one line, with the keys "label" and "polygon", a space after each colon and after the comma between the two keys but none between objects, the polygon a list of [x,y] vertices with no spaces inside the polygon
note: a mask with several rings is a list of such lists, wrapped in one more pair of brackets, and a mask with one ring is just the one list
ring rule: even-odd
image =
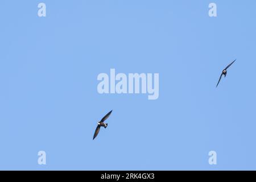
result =
[{"label": "clear pale blue sky surrounding the two dark flying birds", "polygon": [[[0,169],[256,169],[255,7],[1,0]],[[159,73],[158,100],[98,94],[97,76],[110,68]]]}]

